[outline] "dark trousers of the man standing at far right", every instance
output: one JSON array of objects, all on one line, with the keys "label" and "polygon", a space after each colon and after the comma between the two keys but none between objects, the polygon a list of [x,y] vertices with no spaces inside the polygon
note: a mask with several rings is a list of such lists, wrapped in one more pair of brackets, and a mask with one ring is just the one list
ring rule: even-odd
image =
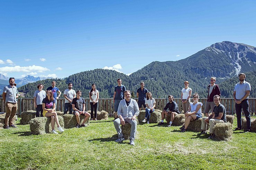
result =
[{"label": "dark trousers of the man standing at far right", "polygon": [[245,113],[245,118],[246,118],[246,126],[247,129],[251,128],[251,117],[249,113],[249,102],[248,99],[243,100],[240,104],[236,104],[236,116],[237,116],[237,128],[241,129],[241,124],[242,124],[242,108]]}]

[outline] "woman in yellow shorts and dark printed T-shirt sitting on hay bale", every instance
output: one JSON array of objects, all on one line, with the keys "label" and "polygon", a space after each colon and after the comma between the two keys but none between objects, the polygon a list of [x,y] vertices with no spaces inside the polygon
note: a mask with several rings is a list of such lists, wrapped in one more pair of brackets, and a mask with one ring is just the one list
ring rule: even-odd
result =
[{"label": "woman in yellow shorts and dark printed T-shirt sitting on hay bale", "polygon": [[58,130],[60,132],[64,132],[64,130],[62,129],[62,127],[59,124],[59,119],[57,116],[57,113],[55,111],[55,99],[53,98],[53,93],[51,90],[47,90],[46,92],[46,97],[43,99],[43,116],[44,117],[51,117],[51,125],[52,125],[52,132],[54,134],[58,134],[55,130],[54,130],[54,126],[55,126],[55,122],[58,126]]}]

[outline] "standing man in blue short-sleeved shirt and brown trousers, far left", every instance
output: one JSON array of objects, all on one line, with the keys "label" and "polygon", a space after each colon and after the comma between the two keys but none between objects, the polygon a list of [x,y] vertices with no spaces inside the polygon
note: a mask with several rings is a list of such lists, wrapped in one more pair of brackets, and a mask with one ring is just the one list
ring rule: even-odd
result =
[{"label": "standing man in blue short-sleeved shirt and brown trousers, far left", "polygon": [[9,85],[3,88],[2,96],[3,96],[3,101],[5,102],[4,106],[6,111],[4,124],[6,129],[10,129],[10,127],[17,128],[17,126],[14,125],[14,116],[18,108],[18,103],[17,103],[18,91],[14,83],[15,83],[15,78],[10,77]]}]

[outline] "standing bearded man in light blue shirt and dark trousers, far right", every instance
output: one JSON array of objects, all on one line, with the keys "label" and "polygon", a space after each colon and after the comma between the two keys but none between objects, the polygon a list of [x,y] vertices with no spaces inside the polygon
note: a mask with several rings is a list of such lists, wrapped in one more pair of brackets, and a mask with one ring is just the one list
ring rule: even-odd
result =
[{"label": "standing bearded man in light blue shirt and dark trousers, far right", "polygon": [[246,118],[246,132],[251,131],[251,118],[250,118],[250,113],[249,113],[249,103],[248,103],[248,98],[249,94],[251,91],[251,85],[250,83],[245,81],[245,74],[240,73],[239,74],[239,81],[234,88],[234,93],[233,97],[236,102],[236,116],[237,116],[237,128],[235,130],[241,130],[241,112],[242,108],[245,113],[245,118]]}]

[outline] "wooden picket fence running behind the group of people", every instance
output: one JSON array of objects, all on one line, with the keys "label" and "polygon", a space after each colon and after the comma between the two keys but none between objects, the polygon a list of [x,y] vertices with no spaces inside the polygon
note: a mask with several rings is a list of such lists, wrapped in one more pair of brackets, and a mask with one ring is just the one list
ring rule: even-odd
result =
[{"label": "wooden picket fence running behind the group of people", "polygon": [[[137,98],[135,98],[138,100]],[[167,98],[155,98],[156,100],[156,107],[155,109],[163,110],[165,105],[168,103]],[[199,102],[203,103],[202,106],[202,112],[204,111],[204,105],[206,103],[207,98],[200,98]],[[178,104],[179,110],[182,110],[181,106],[181,99],[180,98],[174,98],[174,101]],[[193,99],[191,98],[191,101]],[[249,111],[250,115],[255,115],[256,116],[256,98],[249,98]],[[64,110],[64,103],[65,99],[58,99],[57,100],[57,106],[56,106],[56,111],[63,111]],[[90,99],[85,99],[85,110],[90,110]],[[234,115],[236,113],[235,109],[235,100],[233,98],[222,98],[221,102],[222,105],[225,106],[227,115]],[[0,111],[4,112],[4,103],[3,103],[3,98],[0,98]],[[27,110],[35,110],[34,107],[34,98],[18,98],[18,110],[17,113],[21,114],[23,111]],[[114,105],[113,105],[113,98],[101,98],[99,99],[98,103],[98,110],[105,110],[107,111],[110,116],[113,115],[114,112]]]}]

